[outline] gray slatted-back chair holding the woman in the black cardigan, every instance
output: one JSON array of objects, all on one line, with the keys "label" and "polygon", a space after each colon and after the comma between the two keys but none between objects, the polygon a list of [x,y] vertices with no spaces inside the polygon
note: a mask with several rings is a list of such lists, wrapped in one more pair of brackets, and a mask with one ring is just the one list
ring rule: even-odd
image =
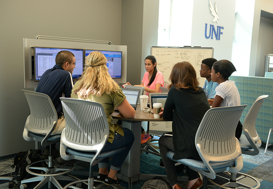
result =
[{"label": "gray slatted-back chair holding the woman in the black cardigan", "polygon": [[[235,138],[236,126],[247,105],[229,106],[209,109],[196,132],[195,146],[202,161],[193,159],[174,160],[203,175],[203,188],[207,188],[207,178],[222,178],[225,184],[217,184],[209,188],[246,187],[236,179],[236,173],[243,168],[243,158],[239,140]],[[167,153],[173,159],[174,152]],[[236,166],[235,166],[236,162]],[[217,173],[226,171],[230,178]],[[259,186],[258,186],[259,187]]]}]

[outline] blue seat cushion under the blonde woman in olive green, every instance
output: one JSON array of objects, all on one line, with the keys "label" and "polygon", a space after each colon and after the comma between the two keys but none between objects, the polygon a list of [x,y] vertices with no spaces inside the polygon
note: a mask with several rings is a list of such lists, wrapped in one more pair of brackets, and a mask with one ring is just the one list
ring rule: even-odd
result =
[{"label": "blue seat cushion under the blonde woman in olive green", "polygon": [[[107,157],[115,155],[119,152],[122,152],[123,150],[125,150],[124,146],[114,149],[114,150],[100,152],[100,154],[97,156],[97,158],[107,158]],[[77,156],[81,156],[81,157],[85,157],[85,158],[94,158],[94,156],[96,155],[96,152],[84,152],[84,151],[74,150],[69,147],[66,148],[66,152],[68,152],[69,154],[72,154],[72,155],[77,155]]]}]

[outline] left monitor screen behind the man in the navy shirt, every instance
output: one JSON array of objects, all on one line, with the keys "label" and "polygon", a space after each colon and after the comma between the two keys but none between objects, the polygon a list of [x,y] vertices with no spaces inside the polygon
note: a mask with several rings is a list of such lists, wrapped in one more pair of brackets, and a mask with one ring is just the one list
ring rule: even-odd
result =
[{"label": "left monitor screen behind the man in the navy shirt", "polygon": [[34,77],[39,81],[43,73],[55,66],[55,58],[60,51],[70,51],[75,55],[76,67],[72,78],[81,77],[84,68],[84,49],[56,48],[56,47],[34,47]]}]

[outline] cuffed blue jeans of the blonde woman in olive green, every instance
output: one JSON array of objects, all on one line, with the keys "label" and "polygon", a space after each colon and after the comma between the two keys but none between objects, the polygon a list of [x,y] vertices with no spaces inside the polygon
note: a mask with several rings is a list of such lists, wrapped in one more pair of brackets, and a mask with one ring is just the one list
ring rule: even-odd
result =
[{"label": "cuffed blue jeans of the blonde woman in olive green", "polygon": [[[119,171],[121,168],[122,163],[124,162],[125,158],[127,157],[133,142],[135,140],[134,134],[130,129],[122,128],[124,132],[124,137],[119,135],[115,132],[114,140],[112,143],[106,142],[106,145],[102,149],[102,151],[108,151],[120,148],[122,146],[125,146],[125,150],[122,152],[119,152],[115,155],[113,155],[112,163],[110,166],[110,169],[113,169],[114,171]],[[104,158],[99,162],[99,168],[108,168],[109,167],[109,157]]]}]

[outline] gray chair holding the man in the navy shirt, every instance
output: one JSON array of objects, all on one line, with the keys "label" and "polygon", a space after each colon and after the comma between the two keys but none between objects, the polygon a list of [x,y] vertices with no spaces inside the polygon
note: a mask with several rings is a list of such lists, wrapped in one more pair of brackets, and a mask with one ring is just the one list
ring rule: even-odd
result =
[{"label": "gray chair holding the man in the navy shirt", "polygon": [[[58,116],[49,96],[33,91],[22,91],[24,92],[30,107],[30,115],[27,117],[25,123],[23,138],[26,141],[41,142],[41,146],[53,145],[59,142],[61,135],[51,135],[56,127]],[[35,164],[40,161],[34,162],[26,167],[26,171],[36,177],[22,180],[20,189],[27,187],[27,184],[25,183],[34,181],[40,181],[34,189],[39,189],[46,183],[48,183],[48,188],[52,188],[52,184],[54,184],[57,188],[62,189],[61,184],[57,180],[75,181],[75,179],[64,175],[72,171],[74,165],[72,165],[70,169],[54,167],[53,157],[51,155],[51,146],[50,154],[46,161],[48,162],[48,167],[35,167]],[[30,171],[31,169],[41,170],[44,174]]]}]

